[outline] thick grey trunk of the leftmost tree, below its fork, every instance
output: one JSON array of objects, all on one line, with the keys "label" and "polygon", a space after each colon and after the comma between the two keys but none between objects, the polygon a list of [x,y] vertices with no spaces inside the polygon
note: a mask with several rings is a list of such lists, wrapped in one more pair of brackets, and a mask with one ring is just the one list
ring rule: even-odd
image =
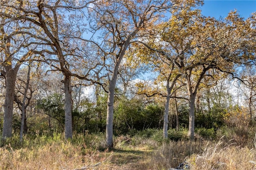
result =
[{"label": "thick grey trunk of the leftmost tree, below its fork", "polygon": [[20,65],[15,68],[11,66],[6,66],[6,94],[4,100],[4,123],[3,123],[3,132],[2,138],[12,136],[12,117],[13,117],[13,103],[14,103],[14,89],[17,72]]}]

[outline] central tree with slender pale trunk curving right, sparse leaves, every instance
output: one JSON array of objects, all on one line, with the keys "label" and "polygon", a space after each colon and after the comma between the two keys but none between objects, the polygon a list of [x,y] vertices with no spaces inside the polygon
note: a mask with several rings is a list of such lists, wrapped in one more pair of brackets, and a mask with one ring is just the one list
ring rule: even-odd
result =
[{"label": "central tree with slender pale trunk curving right, sparse leaves", "polygon": [[88,11],[92,29],[101,31],[101,49],[108,61],[107,147],[113,147],[114,91],[120,63],[133,41],[142,38],[148,27],[154,25],[164,12],[175,8],[177,3],[175,0],[106,0],[94,3]]}]

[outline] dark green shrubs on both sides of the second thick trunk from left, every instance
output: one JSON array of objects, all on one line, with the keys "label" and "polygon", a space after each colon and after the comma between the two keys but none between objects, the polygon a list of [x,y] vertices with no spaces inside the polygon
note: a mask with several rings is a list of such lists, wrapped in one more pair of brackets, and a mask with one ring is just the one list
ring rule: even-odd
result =
[{"label": "dark green shrubs on both sides of the second thick trunk from left", "polygon": [[[104,131],[106,127],[106,108],[103,107],[105,98],[101,97],[95,105],[88,98],[82,100],[77,109],[72,110],[72,119],[74,123],[73,130],[77,133],[86,134],[88,131],[99,132]],[[53,94],[47,98],[37,101],[37,108],[48,115],[43,122],[49,122],[48,128],[43,123],[43,127],[39,128],[37,123],[34,123],[36,128],[34,133],[47,133],[53,134],[54,132],[63,132],[64,130],[64,100],[60,94]],[[35,121],[34,121],[35,122]],[[39,125],[40,126],[40,125]],[[38,130],[40,129],[40,130]],[[39,131],[39,132],[38,132]]]}]

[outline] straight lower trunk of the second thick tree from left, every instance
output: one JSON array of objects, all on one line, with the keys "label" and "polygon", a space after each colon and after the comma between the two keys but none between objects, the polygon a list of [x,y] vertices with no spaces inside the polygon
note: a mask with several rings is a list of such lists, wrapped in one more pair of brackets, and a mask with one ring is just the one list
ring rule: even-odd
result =
[{"label": "straight lower trunk of the second thick tree from left", "polygon": [[72,139],[72,95],[71,95],[71,76],[64,79],[65,91],[65,139]]}]

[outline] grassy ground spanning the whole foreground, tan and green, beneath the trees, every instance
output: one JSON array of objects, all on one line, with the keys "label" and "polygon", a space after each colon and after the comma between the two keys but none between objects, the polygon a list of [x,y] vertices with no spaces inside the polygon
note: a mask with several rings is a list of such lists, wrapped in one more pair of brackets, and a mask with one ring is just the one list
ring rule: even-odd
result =
[{"label": "grassy ground spanning the whole foreground, tan and green, beneath the trees", "polygon": [[[154,136],[154,135],[153,135]],[[1,170],[166,170],[188,162],[192,170],[253,170],[256,150],[241,147],[224,137],[216,141],[158,141],[154,137],[120,136],[114,149],[104,149],[104,134],[28,137],[20,144],[18,136],[0,148]],[[252,141],[254,139],[251,139]]]}]

